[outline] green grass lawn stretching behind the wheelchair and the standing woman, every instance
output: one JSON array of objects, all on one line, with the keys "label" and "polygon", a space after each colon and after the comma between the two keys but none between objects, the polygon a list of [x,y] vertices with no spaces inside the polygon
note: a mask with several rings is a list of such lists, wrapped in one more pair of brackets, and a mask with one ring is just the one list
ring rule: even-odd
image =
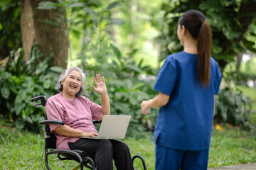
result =
[{"label": "green grass lawn stretching behind the wheelchair and the standing woman", "polygon": [[[9,125],[0,122],[0,169],[43,169],[41,155],[43,152],[43,134],[21,132]],[[225,125],[223,125],[225,126]],[[213,128],[210,144],[208,167],[225,166],[231,164],[247,164],[256,162],[256,135],[255,132],[246,132],[238,128],[223,127],[220,132]],[[124,140],[132,153],[144,157],[147,169],[153,170],[154,142],[152,133],[144,139],[127,138]],[[56,157],[50,157],[49,162],[53,169],[73,169],[76,162],[60,162]],[[139,160],[135,161],[135,169],[142,169]],[[43,167],[44,162],[42,163]]]}]

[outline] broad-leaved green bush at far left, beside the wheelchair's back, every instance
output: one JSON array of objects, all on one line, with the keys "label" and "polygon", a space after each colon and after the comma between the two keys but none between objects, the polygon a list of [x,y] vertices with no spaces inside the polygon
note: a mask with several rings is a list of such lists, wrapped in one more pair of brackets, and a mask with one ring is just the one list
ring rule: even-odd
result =
[{"label": "broad-leaved green bush at far left, beside the wheelchair's back", "polygon": [[[41,57],[37,44],[31,48],[30,60],[22,64],[24,52],[11,52],[6,69],[0,69],[0,114],[6,121],[15,122],[17,128],[38,132],[38,125],[44,119],[42,108],[35,108],[30,99],[34,96],[53,96],[58,79],[58,67],[48,67],[50,57],[37,64]],[[17,60],[16,60],[17,58]]]}]

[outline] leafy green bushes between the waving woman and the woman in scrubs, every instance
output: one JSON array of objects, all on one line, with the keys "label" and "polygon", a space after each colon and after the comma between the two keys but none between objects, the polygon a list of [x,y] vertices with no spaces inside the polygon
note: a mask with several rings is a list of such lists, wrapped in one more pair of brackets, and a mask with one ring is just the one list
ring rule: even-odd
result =
[{"label": "leafy green bushes between the waving woman and the woman in scrubs", "polygon": [[[132,115],[127,136],[142,137],[143,131],[154,130],[157,110],[152,109],[149,115],[142,115],[139,104],[143,100],[153,98],[157,92],[151,89],[154,79],[149,77],[144,79],[139,76],[144,72],[148,74],[152,72],[149,67],[142,67],[142,61],[136,64],[132,57],[129,57],[130,60],[119,57],[121,52],[114,45],[112,47],[117,55],[115,62],[106,63],[106,67],[100,68],[83,67],[86,72],[97,70],[105,76],[112,114]],[[87,75],[87,79],[92,79],[92,76],[94,75]],[[96,103],[101,103],[100,96],[95,91],[92,91],[89,98]]]}]

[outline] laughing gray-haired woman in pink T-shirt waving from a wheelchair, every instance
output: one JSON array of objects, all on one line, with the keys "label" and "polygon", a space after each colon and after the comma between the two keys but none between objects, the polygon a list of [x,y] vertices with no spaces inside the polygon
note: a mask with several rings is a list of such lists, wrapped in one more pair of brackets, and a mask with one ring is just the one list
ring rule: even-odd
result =
[{"label": "laughing gray-haired woman in pink T-shirt waving from a wheelchair", "polygon": [[104,77],[93,77],[96,87],[93,89],[101,95],[102,106],[93,103],[82,94],[85,93],[85,74],[78,67],[69,67],[58,79],[55,89],[59,94],[48,98],[46,113],[49,120],[63,120],[65,125],[50,125],[50,131],[57,138],[57,149],[80,149],[95,158],[98,170],[133,169],[129,147],[117,140],[94,140],[80,137],[96,137],[97,130],[92,123],[110,115],[110,101]]}]

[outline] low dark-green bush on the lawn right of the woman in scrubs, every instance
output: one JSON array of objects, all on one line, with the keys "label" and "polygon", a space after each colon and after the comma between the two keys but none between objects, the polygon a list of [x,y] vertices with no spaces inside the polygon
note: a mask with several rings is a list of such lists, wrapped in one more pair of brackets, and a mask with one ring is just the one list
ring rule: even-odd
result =
[{"label": "low dark-green bush on the lawn right of the woman in scrubs", "polygon": [[242,91],[233,89],[232,86],[226,86],[215,98],[214,120],[250,130],[251,108],[249,97],[244,96]]}]

